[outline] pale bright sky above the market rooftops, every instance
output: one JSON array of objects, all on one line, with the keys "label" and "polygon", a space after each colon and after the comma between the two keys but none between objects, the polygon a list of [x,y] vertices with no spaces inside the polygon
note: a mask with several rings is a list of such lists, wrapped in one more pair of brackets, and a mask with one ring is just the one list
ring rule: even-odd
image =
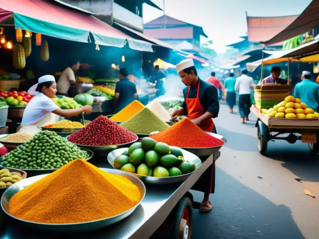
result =
[{"label": "pale bright sky above the market rooftops", "polygon": [[[163,0],[152,0],[163,9]],[[239,42],[247,35],[248,16],[273,17],[300,14],[311,0],[165,0],[165,14],[193,25],[202,26],[216,52]],[[144,23],[163,15],[163,11],[143,5]]]}]

